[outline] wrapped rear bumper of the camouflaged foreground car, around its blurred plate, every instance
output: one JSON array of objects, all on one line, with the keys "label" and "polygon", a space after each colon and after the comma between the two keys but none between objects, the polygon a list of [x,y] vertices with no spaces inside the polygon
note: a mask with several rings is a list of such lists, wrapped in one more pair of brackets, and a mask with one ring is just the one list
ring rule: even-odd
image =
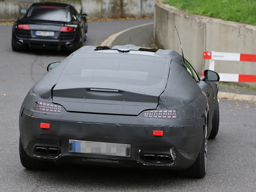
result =
[{"label": "wrapped rear bumper of the camouflaged foreground car, around its blurred plate", "polygon": [[[97,123],[95,122],[97,120]],[[50,124],[49,129],[40,123]],[[162,130],[163,136],[153,136]],[[168,125],[145,122],[140,117],[100,114],[43,114],[23,109],[20,136],[26,153],[35,159],[56,162],[118,164],[124,166],[186,169],[198,156],[203,126],[194,120],[172,120]],[[124,144],[125,155],[77,152],[70,140]]]}]

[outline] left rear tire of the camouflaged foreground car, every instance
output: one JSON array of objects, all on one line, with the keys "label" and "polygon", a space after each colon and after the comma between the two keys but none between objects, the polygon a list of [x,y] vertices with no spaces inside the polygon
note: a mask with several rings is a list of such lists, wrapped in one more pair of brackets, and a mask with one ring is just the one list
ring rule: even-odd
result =
[{"label": "left rear tire of the camouflaged foreground car", "polygon": [[29,157],[29,155],[27,155],[27,153],[23,148],[23,145],[21,143],[21,138],[19,140],[19,153],[20,153],[21,164],[23,165],[23,167],[27,169],[45,170],[45,169],[50,169],[54,166],[54,162],[40,161],[40,160]]}]

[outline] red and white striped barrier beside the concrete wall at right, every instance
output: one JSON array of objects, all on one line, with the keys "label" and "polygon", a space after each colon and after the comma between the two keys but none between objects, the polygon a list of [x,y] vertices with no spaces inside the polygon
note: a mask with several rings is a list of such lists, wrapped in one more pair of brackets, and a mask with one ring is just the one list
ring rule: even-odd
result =
[{"label": "red and white striped barrier beside the concrete wall at right", "polygon": [[[209,59],[209,70],[214,70],[215,60],[256,62],[256,55],[224,52],[204,52],[203,59]],[[219,73],[219,76],[220,81],[256,83],[256,75]]]}]

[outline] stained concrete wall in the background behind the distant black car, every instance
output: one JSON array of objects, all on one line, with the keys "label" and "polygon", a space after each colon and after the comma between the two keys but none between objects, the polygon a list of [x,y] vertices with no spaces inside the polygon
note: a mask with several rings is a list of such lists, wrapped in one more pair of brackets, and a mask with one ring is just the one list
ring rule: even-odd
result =
[{"label": "stained concrete wall in the background behind the distant black car", "polygon": [[[21,15],[21,8],[29,8],[31,3],[0,1],[0,21],[15,21]],[[153,16],[155,0],[81,0],[63,1],[72,4],[78,11],[88,14],[88,19],[124,18]]]}]

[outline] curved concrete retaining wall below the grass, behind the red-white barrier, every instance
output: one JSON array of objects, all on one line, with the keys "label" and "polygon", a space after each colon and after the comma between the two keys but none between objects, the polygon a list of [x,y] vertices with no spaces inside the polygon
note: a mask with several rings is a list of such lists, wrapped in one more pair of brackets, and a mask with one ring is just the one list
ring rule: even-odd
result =
[{"label": "curved concrete retaining wall below the grass, behind the red-white barrier", "polygon": [[[202,59],[204,51],[256,54],[256,26],[186,14],[168,4],[155,5],[155,43],[163,49],[181,53],[177,27],[184,56],[198,73],[209,68]],[[220,73],[256,74],[255,62],[215,61]],[[255,83],[254,83],[255,84]]]}]

